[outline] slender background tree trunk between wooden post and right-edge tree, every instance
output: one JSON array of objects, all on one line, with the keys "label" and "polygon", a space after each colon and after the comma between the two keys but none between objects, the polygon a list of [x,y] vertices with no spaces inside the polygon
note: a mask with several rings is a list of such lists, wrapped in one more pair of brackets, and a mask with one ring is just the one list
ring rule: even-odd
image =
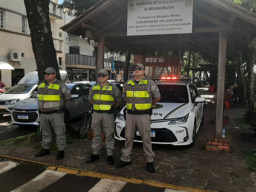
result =
[{"label": "slender background tree trunk between wooden post and right-edge tree", "polygon": [[238,66],[237,66],[237,71],[239,75],[238,79],[238,88],[240,90],[239,94],[239,100],[241,100],[241,103],[243,105],[246,104],[246,84],[245,84],[245,78],[244,78],[244,71],[243,71],[243,60],[242,60],[242,53],[238,52]]}]

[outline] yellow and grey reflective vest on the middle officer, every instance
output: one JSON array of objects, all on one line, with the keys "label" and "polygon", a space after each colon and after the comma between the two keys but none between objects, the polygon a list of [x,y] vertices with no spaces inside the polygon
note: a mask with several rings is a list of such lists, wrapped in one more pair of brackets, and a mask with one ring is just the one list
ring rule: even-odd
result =
[{"label": "yellow and grey reflective vest on the middle officer", "polygon": [[114,104],[114,98],[111,96],[112,86],[105,85],[100,90],[100,85],[94,85],[92,87],[93,91],[93,109],[108,111],[111,109],[111,106]]}]

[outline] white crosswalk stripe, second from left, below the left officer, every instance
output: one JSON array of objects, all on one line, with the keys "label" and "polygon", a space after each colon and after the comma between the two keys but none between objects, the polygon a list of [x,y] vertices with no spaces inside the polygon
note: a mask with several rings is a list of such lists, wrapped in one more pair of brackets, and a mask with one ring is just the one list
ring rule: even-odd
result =
[{"label": "white crosswalk stripe, second from left, below the left officer", "polygon": [[64,172],[45,170],[34,179],[28,181],[19,188],[12,190],[12,192],[37,192],[43,188],[51,185],[53,182],[59,180],[61,177],[66,175]]}]

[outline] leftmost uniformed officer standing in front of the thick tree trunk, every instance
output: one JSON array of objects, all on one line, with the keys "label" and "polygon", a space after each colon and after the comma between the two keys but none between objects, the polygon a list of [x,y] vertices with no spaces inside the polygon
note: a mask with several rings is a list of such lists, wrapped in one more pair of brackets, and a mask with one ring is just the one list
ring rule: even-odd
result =
[{"label": "leftmost uniformed officer standing in front of the thick tree trunk", "polygon": [[50,154],[53,130],[59,149],[57,159],[63,159],[64,148],[67,146],[63,107],[71,99],[71,93],[66,84],[56,79],[56,70],[52,67],[45,69],[44,81],[39,84],[37,92],[43,149],[36,157]]}]

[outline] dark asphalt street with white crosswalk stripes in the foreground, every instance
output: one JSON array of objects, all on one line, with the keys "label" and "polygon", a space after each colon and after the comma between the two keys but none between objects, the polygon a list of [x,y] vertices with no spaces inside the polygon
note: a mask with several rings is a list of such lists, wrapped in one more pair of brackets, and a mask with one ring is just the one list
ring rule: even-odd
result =
[{"label": "dark asphalt street with white crosswalk stripes in the foreground", "polygon": [[[173,189],[134,184],[121,180],[77,176],[47,169],[42,164],[33,164],[0,158],[1,192],[178,192]],[[186,191],[182,191],[186,192]]]}]

